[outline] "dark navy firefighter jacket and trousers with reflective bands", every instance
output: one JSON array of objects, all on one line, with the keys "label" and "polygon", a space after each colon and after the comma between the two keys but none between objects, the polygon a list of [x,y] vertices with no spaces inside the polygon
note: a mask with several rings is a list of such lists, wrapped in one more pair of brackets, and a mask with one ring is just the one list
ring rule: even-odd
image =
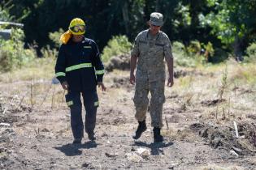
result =
[{"label": "dark navy firefighter jacket and trousers with reflective bands", "polygon": [[81,116],[82,94],[85,105],[85,132],[93,134],[98,108],[96,87],[102,82],[104,66],[93,40],[84,37],[81,42],[69,40],[61,45],[55,66],[55,74],[60,83],[67,81],[67,105],[71,108],[71,125],[74,138],[84,136]]}]

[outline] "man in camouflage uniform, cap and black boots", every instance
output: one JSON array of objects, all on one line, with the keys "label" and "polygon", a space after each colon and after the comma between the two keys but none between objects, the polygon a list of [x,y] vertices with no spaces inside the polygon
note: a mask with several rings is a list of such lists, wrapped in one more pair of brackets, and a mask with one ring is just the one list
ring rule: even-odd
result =
[{"label": "man in camouflage uniform, cap and black boots", "polygon": [[136,108],[135,117],[139,123],[132,138],[140,138],[146,130],[145,114],[149,104],[148,94],[150,91],[150,116],[151,125],[154,127],[154,142],[163,142],[163,136],[160,133],[163,127],[162,114],[165,102],[165,65],[163,60],[165,58],[169,73],[167,87],[171,87],[173,85],[173,57],[171,42],[168,36],[160,31],[163,26],[163,15],[157,12],[152,13],[149,25],[149,29],[137,35],[131,53],[130,83],[136,83],[133,101]]}]

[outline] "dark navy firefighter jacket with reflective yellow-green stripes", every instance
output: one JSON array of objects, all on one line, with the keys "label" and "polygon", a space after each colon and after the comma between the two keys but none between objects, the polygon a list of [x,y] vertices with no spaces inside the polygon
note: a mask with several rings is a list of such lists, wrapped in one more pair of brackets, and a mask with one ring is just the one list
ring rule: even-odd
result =
[{"label": "dark navy firefighter jacket with reflective yellow-green stripes", "polygon": [[55,74],[60,83],[67,81],[69,91],[96,90],[104,74],[96,43],[84,37],[80,42],[69,40],[67,45],[61,45]]}]

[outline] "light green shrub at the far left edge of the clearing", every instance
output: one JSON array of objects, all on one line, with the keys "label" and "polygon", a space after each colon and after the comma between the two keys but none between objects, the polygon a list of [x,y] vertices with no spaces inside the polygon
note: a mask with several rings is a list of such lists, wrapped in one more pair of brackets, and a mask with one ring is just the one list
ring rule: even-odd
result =
[{"label": "light green shrub at the far left edge of the clearing", "polygon": [[10,71],[26,65],[35,58],[33,49],[24,49],[24,32],[20,29],[11,30],[11,39],[0,38],[0,71]]}]

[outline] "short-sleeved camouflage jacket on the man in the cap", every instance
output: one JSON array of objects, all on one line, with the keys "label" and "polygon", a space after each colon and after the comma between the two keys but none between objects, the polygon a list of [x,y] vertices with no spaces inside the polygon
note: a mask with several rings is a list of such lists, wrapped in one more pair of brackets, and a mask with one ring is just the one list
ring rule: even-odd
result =
[{"label": "short-sleeved camouflage jacket on the man in the cap", "polygon": [[133,45],[132,56],[138,57],[137,79],[150,82],[165,80],[164,58],[172,58],[171,42],[164,32],[151,36],[149,29],[140,32]]}]

